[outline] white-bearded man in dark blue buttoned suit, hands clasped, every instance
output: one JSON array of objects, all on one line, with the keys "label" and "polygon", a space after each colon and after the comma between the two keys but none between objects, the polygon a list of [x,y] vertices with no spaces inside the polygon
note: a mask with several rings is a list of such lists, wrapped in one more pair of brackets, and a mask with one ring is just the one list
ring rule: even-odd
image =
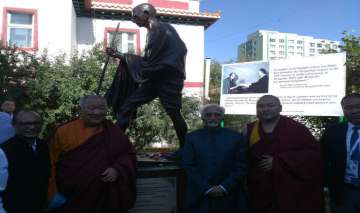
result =
[{"label": "white-bearded man in dark blue buttoned suit, hands clasped", "polygon": [[224,108],[204,106],[204,128],[187,134],[182,165],[187,174],[185,213],[244,212],[242,180],[247,145],[242,134],[221,128]]}]

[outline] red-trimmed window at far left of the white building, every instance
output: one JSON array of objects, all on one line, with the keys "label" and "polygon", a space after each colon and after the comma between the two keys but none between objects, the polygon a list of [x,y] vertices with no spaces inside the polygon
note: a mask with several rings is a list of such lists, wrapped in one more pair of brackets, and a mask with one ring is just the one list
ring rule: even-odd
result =
[{"label": "red-trimmed window at far left of the white building", "polygon": [[37,11],[21,8],[4,8],[2,40],[22,50],[37,50]]}]

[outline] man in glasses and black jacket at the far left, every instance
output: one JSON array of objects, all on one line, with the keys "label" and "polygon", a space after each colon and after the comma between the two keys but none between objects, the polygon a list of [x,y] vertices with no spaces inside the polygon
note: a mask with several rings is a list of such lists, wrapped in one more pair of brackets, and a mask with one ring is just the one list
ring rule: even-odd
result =
[{"label": "man in glasses and black jacket at the far left", "polygon": [[6,169],[9,174],[1,192],[7,213],[39,213],[46,207],[50,164],[47,145],[38,139],[41,124],[36,112],[20,111],[14,118],[15,136],[1,145],[8,162],[8,168],[0,165],[1,175]]}]

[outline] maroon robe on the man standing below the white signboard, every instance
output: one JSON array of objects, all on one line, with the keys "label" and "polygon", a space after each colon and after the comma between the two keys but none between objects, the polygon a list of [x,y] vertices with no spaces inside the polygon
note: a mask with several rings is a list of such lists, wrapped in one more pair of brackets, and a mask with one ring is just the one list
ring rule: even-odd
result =
[{"label": "maroon robe on the man standing below the white signboard", "polygon": [[[248,125],[248,139],[254,123]],[[323,213],[320,146],[302,124],[281,116],[272,133],[259,124],[260,140],[249,150],[251,213]],[[259,157],[273,156],[273,168],[257,167]]]}]

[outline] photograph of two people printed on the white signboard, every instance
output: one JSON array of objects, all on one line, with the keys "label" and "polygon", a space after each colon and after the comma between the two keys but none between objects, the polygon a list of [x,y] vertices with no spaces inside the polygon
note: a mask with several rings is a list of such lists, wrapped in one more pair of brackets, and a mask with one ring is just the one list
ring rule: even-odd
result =
[{"label": "photograph of two people printed on the white signboard", "polygon": [[267,62],[230,64],[223,67],[223,94],[267,93],[269,90]]}]

